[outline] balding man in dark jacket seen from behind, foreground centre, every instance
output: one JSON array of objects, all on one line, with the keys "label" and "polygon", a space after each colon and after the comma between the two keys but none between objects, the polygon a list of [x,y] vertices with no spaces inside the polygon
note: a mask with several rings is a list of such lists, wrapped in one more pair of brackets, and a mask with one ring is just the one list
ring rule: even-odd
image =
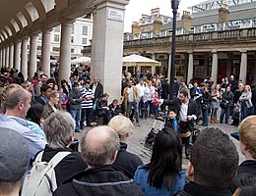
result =
[{"label": "balding man in dark jacket seen from behind, foreground centre", "polygon": [[109,126],[96,126],[81,140],[81,151],[89,170],[63,183],[54,196],[144,195],[139,186],[111,168],[118,152],[119,138]]}]

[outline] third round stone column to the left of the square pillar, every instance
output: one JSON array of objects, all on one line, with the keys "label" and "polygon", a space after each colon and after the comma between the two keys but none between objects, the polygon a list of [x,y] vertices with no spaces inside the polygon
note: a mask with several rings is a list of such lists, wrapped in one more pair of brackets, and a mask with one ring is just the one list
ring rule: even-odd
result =
[{"label": "third round stone column to the left of the square pillar", "polygon": [[31,35],[30,42],[30,77],[32,78],[33,74],[36,72],[37,62],[36,62],[36,51],[37,51],[37,38],[38,34],[33,33]]}]

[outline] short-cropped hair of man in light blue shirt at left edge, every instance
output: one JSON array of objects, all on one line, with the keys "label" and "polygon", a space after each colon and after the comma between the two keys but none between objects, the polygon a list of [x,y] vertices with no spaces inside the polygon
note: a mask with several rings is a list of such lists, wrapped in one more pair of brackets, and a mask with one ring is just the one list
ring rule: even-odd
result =
[{"label": "short-cropped hair of man in light blue shirt at left edge", "polygon": [[12,83],[4,87],[1,96],[1,109],[3,112],[6,110],[13,110],[20,101],[24,103],[27,101],[28,96],[25,89],[16,83]]}]

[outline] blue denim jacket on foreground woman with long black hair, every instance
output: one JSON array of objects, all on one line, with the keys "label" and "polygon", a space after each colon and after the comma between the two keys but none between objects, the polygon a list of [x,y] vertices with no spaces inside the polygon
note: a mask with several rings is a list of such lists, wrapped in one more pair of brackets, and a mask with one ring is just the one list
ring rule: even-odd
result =
[{"label": "blue denim jacket on foreground woman with long black hair", "polygon": [[183,190],[185,185],[185,175],[186,170],[181,170],[180,176],[176,177],[176,181],[171,190],[168,190],[164,184],[162,184],[161,189],[157,189],[150,186],[148,183],[149,171],[145,170],[145,166],[140,166],[134,175],[135,182],[141,187],[145,196],[171,196],[177,193],[179,190]]}]

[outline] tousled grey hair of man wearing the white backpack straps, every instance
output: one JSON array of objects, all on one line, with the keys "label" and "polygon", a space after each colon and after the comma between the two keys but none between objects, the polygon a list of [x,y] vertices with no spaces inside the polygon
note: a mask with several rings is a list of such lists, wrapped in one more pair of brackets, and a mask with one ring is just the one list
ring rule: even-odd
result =
[{"label": "tousled grey hair of man wearing the white backpack straps", "polygon": [[65,148],[75,131],[75,120],[68,112],[57,111],[43,123],[48,146],[52,149]]}]

